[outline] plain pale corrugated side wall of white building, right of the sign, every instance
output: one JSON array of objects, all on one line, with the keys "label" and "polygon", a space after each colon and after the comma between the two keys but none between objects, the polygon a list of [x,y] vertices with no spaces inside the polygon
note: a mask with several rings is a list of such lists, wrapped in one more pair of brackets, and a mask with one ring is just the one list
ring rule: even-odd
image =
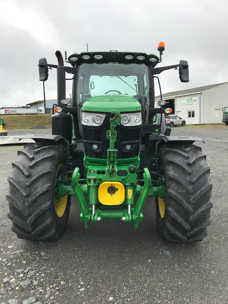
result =
[{"label": "plain pale corrugated side wall of white building, right of the sign", "polygon": [[228,84],[203,91],[202,123],[222,123],[224,106],[228,106]]}]

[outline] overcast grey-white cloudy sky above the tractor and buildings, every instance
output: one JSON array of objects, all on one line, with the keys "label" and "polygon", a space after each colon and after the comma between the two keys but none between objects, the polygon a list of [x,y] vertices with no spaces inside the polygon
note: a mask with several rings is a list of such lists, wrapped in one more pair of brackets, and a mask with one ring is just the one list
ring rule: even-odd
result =
[{"label": "overcast grey-white cloudy sky above the tractor and buildings", "polygon": [[[38,60],[57,64],[86,51],[135,51],[159,55],[158,66],[188,60],[189,83],[178,71],[160,74],[162,92],[228,81],[227,0],[0,0],[0,107],[43,99]],[[49,70],[46,99],[57,98],[56,70]],[[66,96],[71,93],[67,85]]]}]

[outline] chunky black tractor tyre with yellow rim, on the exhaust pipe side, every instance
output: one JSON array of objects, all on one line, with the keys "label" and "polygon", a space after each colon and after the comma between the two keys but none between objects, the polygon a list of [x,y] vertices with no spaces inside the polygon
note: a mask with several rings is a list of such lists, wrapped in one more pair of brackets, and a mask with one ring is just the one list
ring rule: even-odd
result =
[{"label": "chunky black tractor tyre with yellow rim, on the exhaust pipe side", "polygon": [[8,218],[17,237],[56,239],[66,228],[71,196],[66,195],[58,203],[54,198],[57,172],[66,160],[66,149],[59,143],[29,143],[24,150],[18,151],[17,160],[12,163],[6,196]]}]

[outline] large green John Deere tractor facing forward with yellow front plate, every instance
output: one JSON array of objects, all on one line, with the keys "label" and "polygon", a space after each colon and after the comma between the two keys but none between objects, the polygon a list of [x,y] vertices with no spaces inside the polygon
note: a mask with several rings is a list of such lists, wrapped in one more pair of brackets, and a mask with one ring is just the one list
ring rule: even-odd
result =
[{"label": "large green John Deere tractor facing forward with yellow front plate", "polygon": [[[30,135],[18,151],[9,176],[8,217],[22,239],[56,239],[67,226],[71,196],[90,222],[116,219],[137,228],[143,206],[155,196],[157,229],[174,242],[201,241],[212,208],[210,168],[198,137],[170,136],[165,101],[154,108],[154,81],[179,68],[188,82],[188,62],[156,67],[160,58],[135,52],[83,52],[64,66],[39,61],[40,81],[57,69],[58,105],[52,135]],[[72,74],[72,107],[66,99],[65,73]],[[86,200],[86,197],[88,199]]]}]

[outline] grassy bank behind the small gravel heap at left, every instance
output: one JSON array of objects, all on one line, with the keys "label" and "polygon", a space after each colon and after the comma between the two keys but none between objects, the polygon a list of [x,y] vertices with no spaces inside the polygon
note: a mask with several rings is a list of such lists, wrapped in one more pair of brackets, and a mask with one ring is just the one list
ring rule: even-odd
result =
[{"label": "grassy bank behind the small gravel heap at left", "polygon": [[35,114],[35,115],[3,115],[2,118],[6,124],[7,130],[29,129],[36,125],[44,125],[51,128],[52,114]]}]

